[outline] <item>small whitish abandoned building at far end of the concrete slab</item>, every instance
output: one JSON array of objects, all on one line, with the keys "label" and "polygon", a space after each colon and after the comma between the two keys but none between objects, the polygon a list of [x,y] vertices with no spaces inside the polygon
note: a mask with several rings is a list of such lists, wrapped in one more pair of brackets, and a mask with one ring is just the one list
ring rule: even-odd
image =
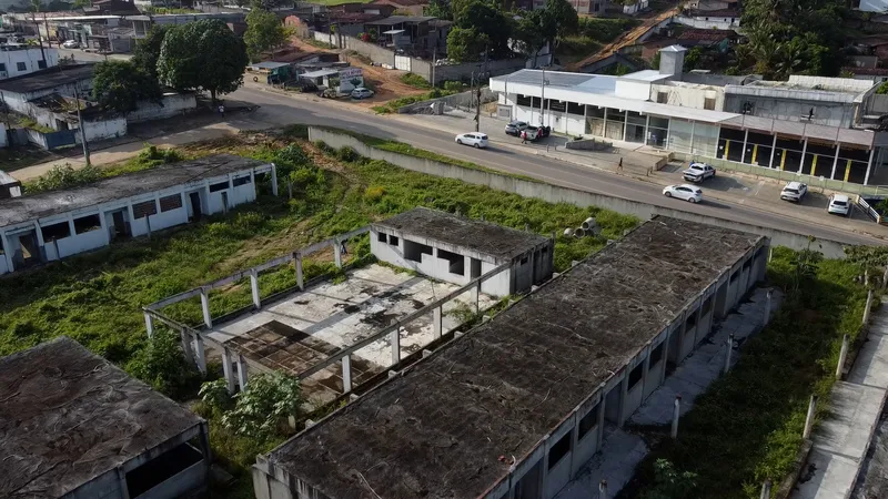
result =
[{"label": "small whitish abandoned building at far end of the concrete slab", "polygon": [[383,262],[458,285],[511,264],[481,286],[492,296],[524,293],[553,271],[548,237],[423,207],[371,224],[370,247]]}]

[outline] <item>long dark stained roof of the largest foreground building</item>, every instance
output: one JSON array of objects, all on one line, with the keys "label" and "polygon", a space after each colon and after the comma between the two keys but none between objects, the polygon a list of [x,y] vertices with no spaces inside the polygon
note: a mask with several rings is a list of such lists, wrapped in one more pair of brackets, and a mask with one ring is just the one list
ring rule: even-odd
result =
[{"label": "long dark stained roof of the largest foreground building", "polygon": [[332,499],[482,496],[759,240],[656,217],[265,459]]}]

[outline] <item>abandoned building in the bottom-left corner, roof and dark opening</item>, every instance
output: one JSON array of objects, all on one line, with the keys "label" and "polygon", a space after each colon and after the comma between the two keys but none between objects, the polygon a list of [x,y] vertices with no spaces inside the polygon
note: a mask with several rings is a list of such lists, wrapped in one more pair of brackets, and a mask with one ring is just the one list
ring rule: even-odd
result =
[{"label": "abandoned building in the bottom-left corner, roof and dark opening", "polygon": [[165,499],[206,488],[206,422],[61,337],[0,358],[0,497]]}]

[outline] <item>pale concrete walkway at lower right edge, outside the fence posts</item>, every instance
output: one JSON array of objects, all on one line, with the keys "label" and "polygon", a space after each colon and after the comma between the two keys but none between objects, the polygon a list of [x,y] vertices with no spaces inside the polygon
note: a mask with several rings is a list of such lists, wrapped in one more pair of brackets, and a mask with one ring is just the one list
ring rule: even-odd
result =
[{"label": "pale concrete walkway at lower right edge, outside the fence posts", "polygon": [[[790,499],[846,499],[855,488],[864,458],[888,395],[888,309],[872,317],[869,336],[848,374],[829,397],[830,414],[814,431],[807,476]],[[885,470],[880,470],[885,473]]]}]

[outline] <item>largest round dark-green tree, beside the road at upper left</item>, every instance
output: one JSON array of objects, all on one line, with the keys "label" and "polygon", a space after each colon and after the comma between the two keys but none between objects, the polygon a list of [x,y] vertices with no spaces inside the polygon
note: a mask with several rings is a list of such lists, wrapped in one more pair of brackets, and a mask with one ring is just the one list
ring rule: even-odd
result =
[{"label": "largest round dark-green tree, beside the road at upper left", "polygon": [[163,37],[158,77],[178,90],[216,95],[238,90],[249,63],[246,45],[218,19],[176,26]]}]

